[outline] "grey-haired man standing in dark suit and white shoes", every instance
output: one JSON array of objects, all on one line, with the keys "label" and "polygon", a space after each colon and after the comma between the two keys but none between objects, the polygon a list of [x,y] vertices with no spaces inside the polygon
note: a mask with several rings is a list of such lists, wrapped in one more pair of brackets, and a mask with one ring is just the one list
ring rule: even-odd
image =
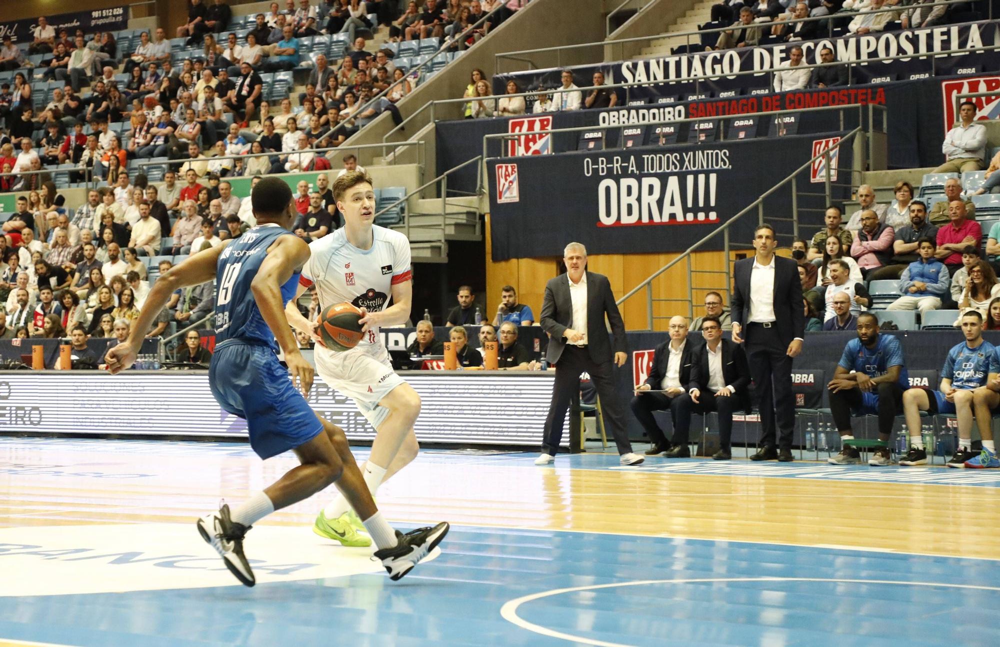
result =
[{"label": "grey-haired man standing in dark suit and white shoes", "polygon": [[625,411],[615,394],[614,372],[611,368],[612,346],[604,324],[605,315],[614,336],[614,362],[625,363],[625,323],[622,322],[611,294],[608,278],[585,272],[587,250],[579,243],[570,243],[563,254],[566,274],[551,279],[545,286],[542,302],[542,328],[549,333],[547,355],[556,364],[552,403],[545,419],[542,454],[536,465],[554,460],[562,438],[563,421],[570,400],[580,391],[580,373],[590,373],[604,409],[604,423],[611,427],[624,465],[635,465],[643,457],[632,453],[625,430]]}]

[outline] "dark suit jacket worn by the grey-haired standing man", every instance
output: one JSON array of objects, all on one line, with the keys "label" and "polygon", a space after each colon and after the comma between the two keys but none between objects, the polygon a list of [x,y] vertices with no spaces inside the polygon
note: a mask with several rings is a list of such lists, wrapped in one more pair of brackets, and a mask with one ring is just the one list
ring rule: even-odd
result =
[{"label": "dark suit jacket worn by the grey-haired standing man", "polygon": [[[798,273],[798,270],[796,270]],[[612,351],[626,352],[625,323],[611,293],[611,282],[604,275],[587,272],[587,349],[594,361],[610,361]],[[798,278],[798,275],[796,275]],[[608,340],[608,330],[604,324],[605,315],[611,324],[614,347]],[[573,325],[573,303],[569,296],[569,277],[561,274],[550,279],[545,285],[545,299],[542,302],[542,328],[549,333],[549,347],[546,356],[556,363],[566,347],[566,328]]]}]

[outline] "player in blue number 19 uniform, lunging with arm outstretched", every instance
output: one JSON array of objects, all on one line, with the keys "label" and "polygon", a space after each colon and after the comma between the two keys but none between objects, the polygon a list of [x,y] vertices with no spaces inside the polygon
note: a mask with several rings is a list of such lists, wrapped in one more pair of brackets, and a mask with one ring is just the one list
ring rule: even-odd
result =
[{"label": "player in blue number 19 uniform, lunging with arm outstretched", "polygon": [[[108,369],[117,373],[132,365],[146,331],[175,290],[216,279],[212,394],[222,408],[246,418],[250,444],[261,458],[292,449],[301,464],[232,511],[223,504],[200,518],[201,536],[240,582],[253,586],[256,580],[243,554],[247,531],[274,510],[335,483],[364,519],[378,546],[375,556],[397,580],[444,538],[448,524],[405,535],[393,530],[375,507],[343,430],[309,407],[304,395],[312,386],[313,369],[299,352],[284,314],[299,283],[299,268],[309,259],[309,246],[288,231],[296,213],[284,181],[261,180],[251,204],[257,227],[228,245],[195,255],[156,281],[128,340],[108,351]],[[275,354],[279,345],[288,370]]]}]

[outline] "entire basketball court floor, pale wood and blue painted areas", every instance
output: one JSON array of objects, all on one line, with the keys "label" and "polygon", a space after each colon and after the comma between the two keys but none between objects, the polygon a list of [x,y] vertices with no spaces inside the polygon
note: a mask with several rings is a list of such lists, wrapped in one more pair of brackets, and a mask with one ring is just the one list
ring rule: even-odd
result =
[{"label": "entire basketball court floor, pale wood and blue painted areas", "polygon": [[385,483],[394,525],[453,526],[400,583],[311,533],[320,493],[251,531],[246,589],[193,520],[294,458],[0,437],[0,647],[996,644],[993,471],[534,455],[429,449]]}]

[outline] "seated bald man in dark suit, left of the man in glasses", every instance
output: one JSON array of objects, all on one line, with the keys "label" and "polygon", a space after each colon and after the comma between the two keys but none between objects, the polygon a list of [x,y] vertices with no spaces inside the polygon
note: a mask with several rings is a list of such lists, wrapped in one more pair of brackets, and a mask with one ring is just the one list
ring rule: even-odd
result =
[{"label": "seated bald man in dark suit, left of the man in glasses", "polygon": [[[674,436],[677,436],[677,405],[684,395],[686,385],[691,381],[691,364],[695,346],[698,345],[694,339],[688,341],[687,332],[686,319],[677,316],[670,320],[670,338],[656,346],[649,377],[635,387],[635,397],[631,402],[632,412],[646,429],[649,441],[653,443],[653,446],[646,450],[647,456],[655,456],[670,449],[670,443],[656,423],[653,411],[670,409],[674,420]],[[659,389],[664,392],[644,392]]]}]

